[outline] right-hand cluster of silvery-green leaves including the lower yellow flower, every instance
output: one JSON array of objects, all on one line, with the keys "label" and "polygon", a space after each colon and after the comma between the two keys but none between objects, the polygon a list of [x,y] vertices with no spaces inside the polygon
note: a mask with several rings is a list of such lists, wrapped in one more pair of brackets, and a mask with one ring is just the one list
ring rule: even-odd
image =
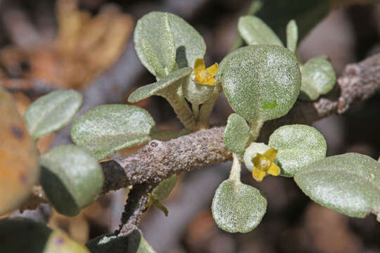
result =
[{"label": "right-hand cluster of silvery-green leaves including the lower yellow flower", "polygon": [[372,212],[379,220],[380,202],[375,197],[380,186],[379,162],[360,154],[325,158],[324,137],[305,125],[281,126],[267,145],[254,142],[263,122],[286,115],[297,98],[316,100],[331,91],[336,77],[327,57],[312,58],[305,65],[298,62],[298,28],[293,20],[286,27],[287,49],[255,16],[240,18],[238,30],[248,46],[226,56],[218,73],[236,112],[229,116],[224,131],[224,143],[236,162],[213,199],[217,225],[232,233],[246,233],[265,214],[267,200],[262,193],[236,176],[240,162],[258,181],[265,174],[294,177],[301,190],[320,205],[355,217]]}]

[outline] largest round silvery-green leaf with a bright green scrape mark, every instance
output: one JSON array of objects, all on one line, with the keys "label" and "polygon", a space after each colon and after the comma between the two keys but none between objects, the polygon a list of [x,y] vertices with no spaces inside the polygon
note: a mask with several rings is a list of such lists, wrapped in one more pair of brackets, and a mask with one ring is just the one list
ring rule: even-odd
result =
[{"label": "largest round silvery-green leaf with a bright green scrape mark", "polygon": [[220,79],[229,104],[248,121],[286,115],[300,91],[296,56],[281,46],[245,46],[220,63]]}]

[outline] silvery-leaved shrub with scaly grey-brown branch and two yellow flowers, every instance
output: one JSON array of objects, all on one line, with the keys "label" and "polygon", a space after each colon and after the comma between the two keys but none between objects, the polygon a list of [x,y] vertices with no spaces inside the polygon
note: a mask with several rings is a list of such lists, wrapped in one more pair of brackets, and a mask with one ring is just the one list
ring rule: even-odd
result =
[{"label": "silvery-leaved shrub with scaly grey-brown branch and two yellow flowers", "polygon": [[[135,105],[100,105],[74,120],[75,145],[61,145],[38,157],[35,141],[75,117],[81,94],[53,91],[34,101],[22,119],[8,93],[0,89],[0,112],[12,112],[17,122],[6,121],[0,129],[21,136],[22,150],[31,156],[27,167],[12,171],[23,175],[19,188],[1,182],[0,214],[30,208],[25,202],[38,185],[44,192],[40,201],[66,216],[79,214],[110,190],[130,188],[118,231],[90,240],[87,247],[32,221],[0,221],[0,238],[39,231],[44,252],[56,250],[57,238],[68,240],[68,252],[154,252],[138,228],[142,212],[157,207],[170,218],[161,201],[175,187],[177,174],[227,160],[232,160],[231,171],[215,190],[211,210],[217,226],[229,233],[248,233],[260,226],[271,201],[258,188],[241,182],[242,169],[262,184],[267,176],[293,178],[319,205],[359,218],[372,213],[380,221],[379,161],[358,153],[326,157],[327,142],[308,125],[312,122],[286,119],[292,110],[303,110],[297,108],[307,103],[315,106],[318,98],[334,89],[336,74],[327,56],[300,62],[295,20],[286,26],[285,43],[255,15],[241,17],[238,30],[244,46],[206,67],[205,41],[182,18],[151,12],[138,20],[134,46],[156,82],[141,86],[128,101],[165,98],[183,125],[180,131],[158,129],[150,113]],[[222,92],[235,113],[226,126],[210,127],[211,112]],[[205,147],[196,150],[201,141]],[[128,157],[110,156],[138,145],[145,146]],[[20,162],[11,155],[7,159]],[[29,235],[25,238],[32,243]],[[4,247],[10,252],[23,245],[10,239]]]}]

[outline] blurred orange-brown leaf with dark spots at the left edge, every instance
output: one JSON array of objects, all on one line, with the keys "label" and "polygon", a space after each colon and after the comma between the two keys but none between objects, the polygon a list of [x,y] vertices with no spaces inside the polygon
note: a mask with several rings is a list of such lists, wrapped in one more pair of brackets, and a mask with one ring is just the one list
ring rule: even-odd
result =
[{"label": "blurred orange-brown leaf with dark spots at the left edge", "polygon": [[0,86],[0,214],[19,207],[39,176],[37,147],[11,95]]}]

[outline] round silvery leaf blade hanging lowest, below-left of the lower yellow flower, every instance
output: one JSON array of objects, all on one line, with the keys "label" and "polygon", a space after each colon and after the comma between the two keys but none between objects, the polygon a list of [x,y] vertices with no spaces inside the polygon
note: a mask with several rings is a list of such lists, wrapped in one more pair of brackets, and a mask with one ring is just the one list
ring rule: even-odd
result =
[{"label": "round silvery leaf blade hanging lowest, below-left of the lower yellow flower", "polygon": [[215,191],[211,210],[217,226],[229,233],[248,233],[260,223],[267,200],[260,190],[232,179]]}]

